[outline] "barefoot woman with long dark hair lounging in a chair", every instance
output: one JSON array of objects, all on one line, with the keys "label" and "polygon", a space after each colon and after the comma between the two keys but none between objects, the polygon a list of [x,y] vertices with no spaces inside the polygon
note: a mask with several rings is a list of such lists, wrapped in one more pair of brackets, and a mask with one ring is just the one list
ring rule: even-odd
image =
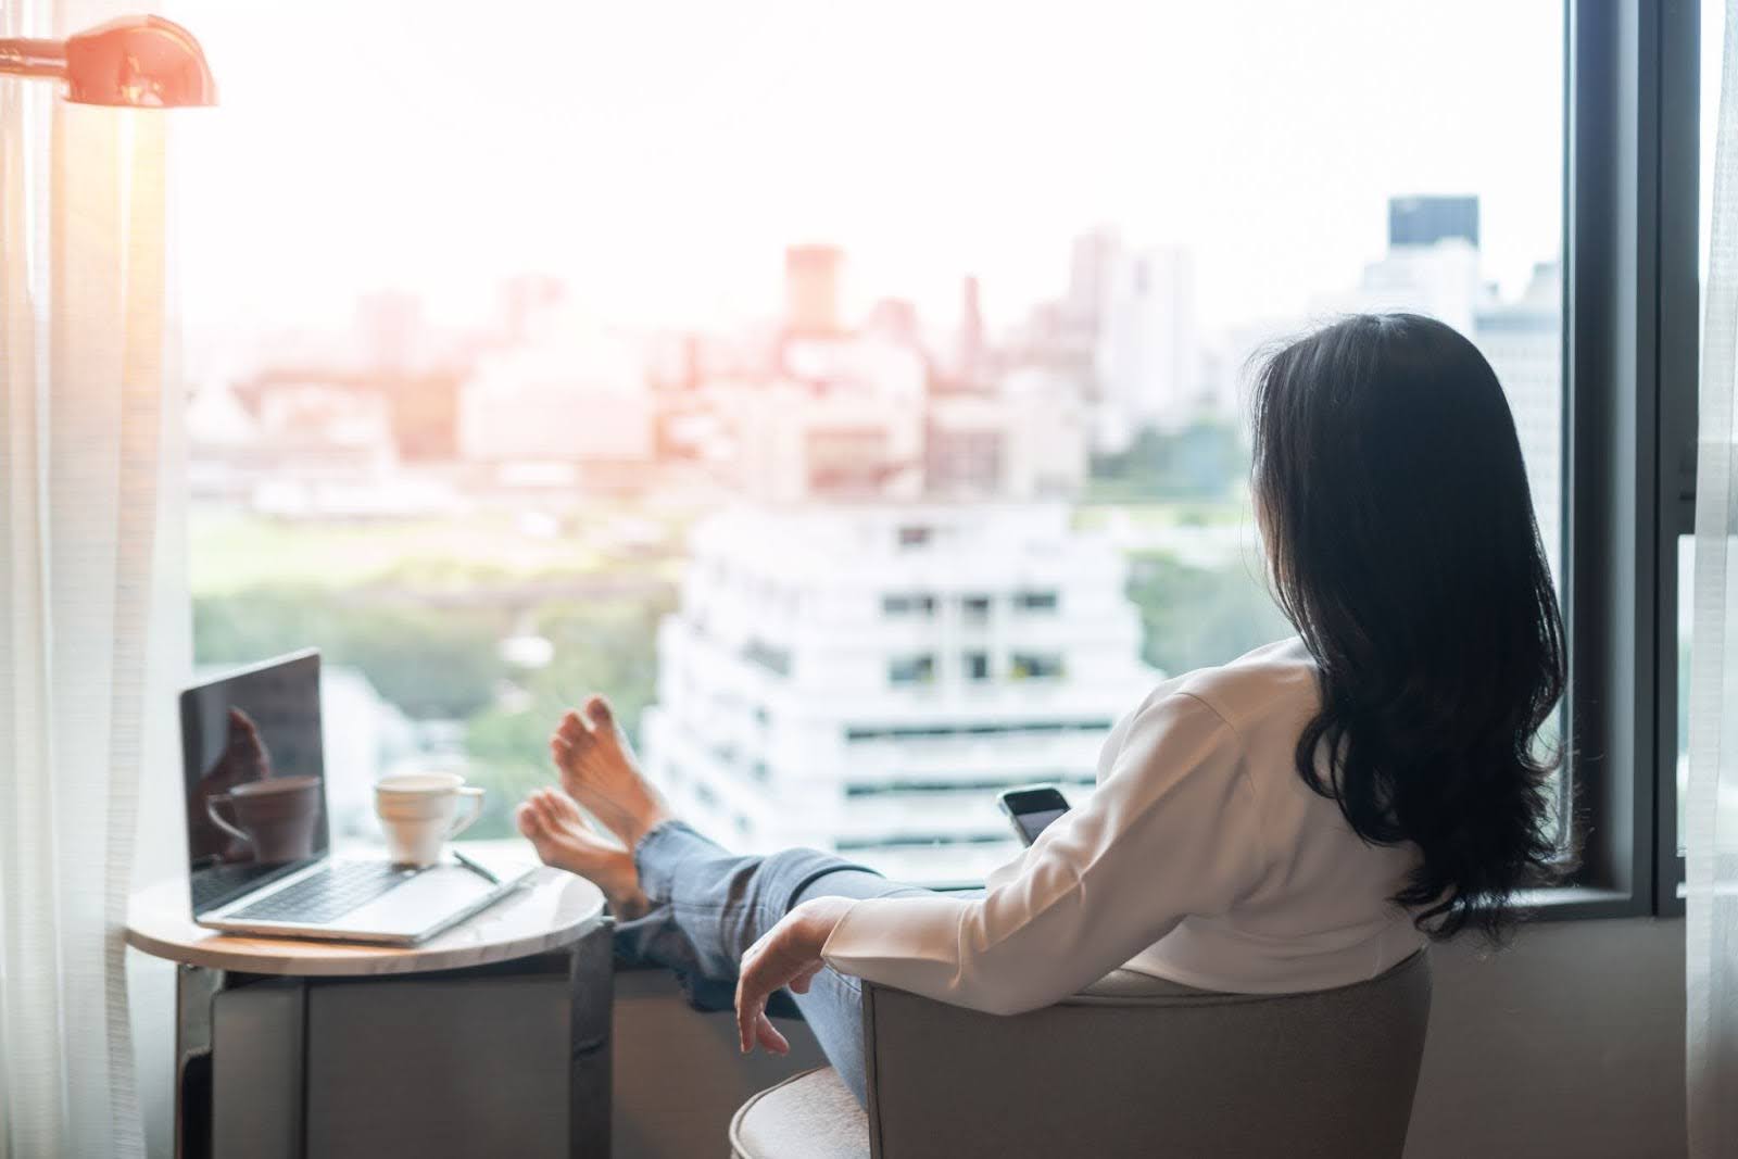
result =
[{"label": "barefoot woman with long dark hair lounging in a chair", "polygon": [[1267,360],[1253,424],[1298,638],[1154,688],[1091,799],[982,895],[812,850],[723,851],[669,815],[596,697],[551,740],[567,794],[535,794],[523,832],[603,886],[624,952],[733,982],[744,1051],[786,1050],[766,1001],[794,992],[859,1098],[864,978],[1015,1013],[1124,964],[1295,992],[1380,975],[1425,938],[1498,940],[1557,853],[1536,733],[1564,685],[1502,387],[1443,323],[1354,316]]}]

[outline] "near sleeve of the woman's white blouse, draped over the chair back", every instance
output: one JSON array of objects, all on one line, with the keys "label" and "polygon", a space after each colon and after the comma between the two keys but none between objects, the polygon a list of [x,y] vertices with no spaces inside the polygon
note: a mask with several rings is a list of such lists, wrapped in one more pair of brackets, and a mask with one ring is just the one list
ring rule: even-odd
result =
[{"label": "near sleeve of the woman's white blouse, draped over the chair back", "polygon": [[989,1013],[1048,1006],[1187,916],[1224,914],[1265,857],[1243,745],[1175,693],[1128,719],[1112,775],[984,897],[855,902],[822,957],[869,982]]}]

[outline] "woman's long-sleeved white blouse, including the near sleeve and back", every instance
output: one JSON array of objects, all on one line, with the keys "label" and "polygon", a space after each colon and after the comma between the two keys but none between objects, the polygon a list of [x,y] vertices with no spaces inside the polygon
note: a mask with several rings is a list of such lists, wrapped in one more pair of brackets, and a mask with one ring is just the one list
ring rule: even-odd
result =
[{"label": "woman's long-sleeved white blouse, including the near sleeve and back", "polygon": [[1366,844],[1298,777],[1317,705],[1298,639],[1164,681],[1111,732],[1091,799],[982,897],[855,902],[822,956],[992,1013],[1118,966],[1239,994],[1373,978],[1423,944],[1390,900],[1418,850]]}]

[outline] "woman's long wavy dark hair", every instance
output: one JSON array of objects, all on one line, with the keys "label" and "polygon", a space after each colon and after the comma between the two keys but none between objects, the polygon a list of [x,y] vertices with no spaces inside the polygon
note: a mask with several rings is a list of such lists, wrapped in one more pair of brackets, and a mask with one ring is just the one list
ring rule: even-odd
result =
[{"label": "woman's long wavy dark hair", "polygon": [[1262,365],[1253,485],[1281,608],[1319,666],[1297,772],[1364,841],[1411,841],[1394,900],[1500,942],[1557,860],[1540,744],[1562,617],[1514,417],[1453,328],[1357,315]]}]

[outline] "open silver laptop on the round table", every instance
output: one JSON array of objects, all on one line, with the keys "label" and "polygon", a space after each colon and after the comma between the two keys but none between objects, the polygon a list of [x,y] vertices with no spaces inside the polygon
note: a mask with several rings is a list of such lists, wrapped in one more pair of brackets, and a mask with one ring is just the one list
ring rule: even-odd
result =
[{"label": "open silver laptop on the round table", "polygon": [[182,692],[181,751],[188,881],[202,926],[414,945],[535,869],[332,857],[315,650]]}]

